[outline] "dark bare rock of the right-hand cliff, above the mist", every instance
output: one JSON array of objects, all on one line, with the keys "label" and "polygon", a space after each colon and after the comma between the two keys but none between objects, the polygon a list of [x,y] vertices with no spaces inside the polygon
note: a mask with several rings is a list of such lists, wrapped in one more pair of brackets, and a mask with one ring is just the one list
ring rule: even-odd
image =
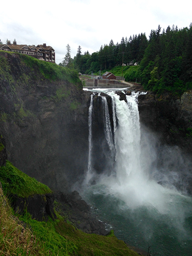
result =
[{"label": "dark bare rock of the right-hand cliff, above the mist", "polygon": [[180,99],[154,93],[140,95],[140,121],[161,137],[161,142],[178,145],[185,153],[192,154],[192,92]]}]

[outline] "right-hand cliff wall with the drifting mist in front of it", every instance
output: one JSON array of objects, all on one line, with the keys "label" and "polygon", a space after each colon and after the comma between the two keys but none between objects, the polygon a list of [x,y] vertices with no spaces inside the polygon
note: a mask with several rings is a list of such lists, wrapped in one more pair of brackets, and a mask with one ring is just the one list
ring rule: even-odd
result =
[{"label": "right-hand cliff wall with the drifting mist in front of it", "polygon": [[[192,195],[192,92],[184,93],[180,99],[153,93],[140,95],[139,112],[142,131],[149,129],[152,143],[156,134],[154,166],[173,174],[169,182],[182,193]],[[166,186],[161,180],[159,184]]]}]

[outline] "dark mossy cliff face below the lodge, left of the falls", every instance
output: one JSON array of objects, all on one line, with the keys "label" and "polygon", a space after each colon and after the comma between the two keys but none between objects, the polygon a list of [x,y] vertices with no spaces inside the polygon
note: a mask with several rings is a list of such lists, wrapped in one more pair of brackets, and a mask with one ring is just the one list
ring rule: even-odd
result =
[{"label": "dark mossy cliff face below the lodge, left of the falls", "polygon": [[89,97],[70,70],[54,81],[65,69],[32,59],[0,53],[0,133],[17,168],[66,191],[87,164]]}]

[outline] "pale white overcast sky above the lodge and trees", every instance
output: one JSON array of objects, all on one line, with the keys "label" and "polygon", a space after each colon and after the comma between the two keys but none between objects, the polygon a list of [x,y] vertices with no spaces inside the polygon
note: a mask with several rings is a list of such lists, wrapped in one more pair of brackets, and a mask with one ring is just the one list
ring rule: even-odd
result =
[{"label": "pale white overcast sky above the lodge and trees", "polygon": [[99,51],[113,39],[150,34],[158,25],[166,29],[192,22],[190,0],[55,0],[4,2],[0,9],[0,39],[17,44],[46,43],[55,49],[56,63],[62,62],[67,44],[74,57],[80,45],[82,54]]}]

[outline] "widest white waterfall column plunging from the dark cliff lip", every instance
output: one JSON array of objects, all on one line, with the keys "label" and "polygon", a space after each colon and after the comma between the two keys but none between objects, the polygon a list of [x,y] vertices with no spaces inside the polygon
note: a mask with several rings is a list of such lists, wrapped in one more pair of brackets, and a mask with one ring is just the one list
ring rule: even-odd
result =
[{"label": "widest white waterfall column plunging from the dark cliff lip", "polygon": [[127,103],[114,95],[118,126],[115,130],[116,170],[120,182],[126,182],[139,167],[140,124],[136,102],[138,94],[126,96]]}]

